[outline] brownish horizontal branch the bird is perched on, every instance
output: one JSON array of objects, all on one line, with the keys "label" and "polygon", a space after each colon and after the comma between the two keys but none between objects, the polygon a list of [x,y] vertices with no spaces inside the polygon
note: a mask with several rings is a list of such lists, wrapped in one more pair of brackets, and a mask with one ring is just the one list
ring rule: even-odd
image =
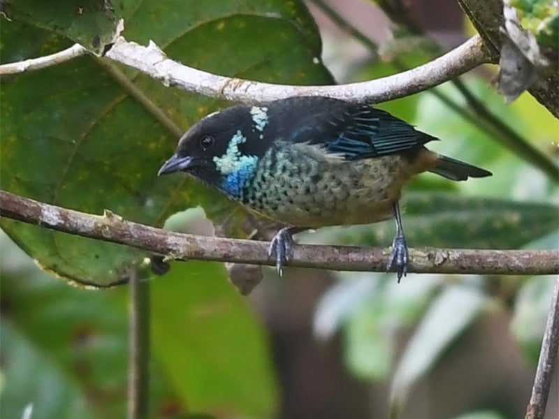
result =
[{"label": "brownish horizontal branch the bird is perched on", "polygon": [[[85,214],[0,191],[0,216],[97,240],[127,244],[177,260],[274,265],[266,242],[188,235],[126,221],[106,211]],[[558,274],[555,250],[411,249],[409,272],[449,274]],[[286,265],[384,272],[386,249],[298,244]]]}]

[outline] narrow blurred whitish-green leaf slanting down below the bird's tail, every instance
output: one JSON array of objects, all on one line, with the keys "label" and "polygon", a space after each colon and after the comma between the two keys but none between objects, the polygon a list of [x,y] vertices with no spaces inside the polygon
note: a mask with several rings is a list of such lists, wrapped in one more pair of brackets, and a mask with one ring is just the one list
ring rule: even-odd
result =
[{"label": "narrow blurred whitish-green leaf slanting down below the bird's tail", "polygon": [[391,389],[392,411],[401,411],[412,385],[474,321],[486,302],[475,284],[447,286],[433,300],[398,362]]}]

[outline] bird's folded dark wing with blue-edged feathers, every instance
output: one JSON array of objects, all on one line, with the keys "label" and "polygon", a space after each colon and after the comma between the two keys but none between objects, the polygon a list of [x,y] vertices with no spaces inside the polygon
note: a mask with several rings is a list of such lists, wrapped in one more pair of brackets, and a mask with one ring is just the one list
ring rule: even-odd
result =
[{"label": "bird's folded dark wing with blue-edged feathers", "polygon": [[406,152],[436,138],[384,110],[353,105],[328,110],[302,124],[291,141],[319,145],[345,159],[368,159]]}]

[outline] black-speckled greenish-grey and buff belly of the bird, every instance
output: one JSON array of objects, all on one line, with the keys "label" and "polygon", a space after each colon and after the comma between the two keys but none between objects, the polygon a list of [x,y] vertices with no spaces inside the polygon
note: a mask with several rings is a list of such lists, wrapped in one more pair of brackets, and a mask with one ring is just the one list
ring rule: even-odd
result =
[{"label": "black-speckled greenish-grey and buff belly of the bird", "polygon": [[257,171],[245,204],[277,221],[309,228],[388,219],[407,180],[406,161],[398,155],[278,159],[273,166],[276,170]]}]

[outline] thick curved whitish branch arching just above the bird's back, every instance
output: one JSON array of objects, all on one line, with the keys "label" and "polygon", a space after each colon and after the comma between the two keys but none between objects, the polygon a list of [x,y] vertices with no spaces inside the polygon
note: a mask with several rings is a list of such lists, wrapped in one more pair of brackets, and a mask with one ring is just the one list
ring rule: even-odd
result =
[{"label": "thick curved whitish branch arching just above the bird's back", "polygon": [[490,61],[479,36],[474,36],[442,57],[386,78],[336,86],[289,86],[227,78],[183,66],[168,59],[152,42],[143,47],[119,38],[106,56],[137,68],[166,85],[245,103],[305,95],[378,103],[430,89]]}]

